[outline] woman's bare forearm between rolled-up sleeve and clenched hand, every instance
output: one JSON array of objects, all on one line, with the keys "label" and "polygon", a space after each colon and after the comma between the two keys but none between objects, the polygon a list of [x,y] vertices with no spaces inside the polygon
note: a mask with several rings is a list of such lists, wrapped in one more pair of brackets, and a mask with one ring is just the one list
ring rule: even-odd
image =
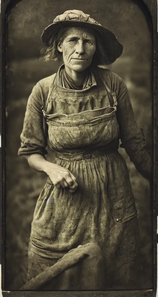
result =
[{"label": "woman's bare forearm between rolled-up sleeve and clenched hand", "polygon": [[40,154],[32,154],[30,156],[25,156],[29,166],[34,169],[35,171],[45,172],[49,174],[50,167],[53,168],[56,164],[53,164],[47,161],[42,155]]}]

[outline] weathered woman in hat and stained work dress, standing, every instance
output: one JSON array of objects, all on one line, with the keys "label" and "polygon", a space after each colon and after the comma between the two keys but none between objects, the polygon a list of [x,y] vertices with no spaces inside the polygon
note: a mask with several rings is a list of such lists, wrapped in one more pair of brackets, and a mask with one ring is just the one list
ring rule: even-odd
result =
[{"label": "weathered woman in hat and stained work dress, standing", "polygon": [[[119,140],[148,180],[152,163],[126,85],[97,67],[114,62],[123,46],[77,10],[57,16],[41,39],[45,59],[62,57],[64,64],[33,88],[21,134],[19,155],[48,174],[32,222],[28,279],[37,275],[35,267],[42,272],[78,245],[95,243],[104,259],[106,289],[139,288],[137,210]],[[46,127],[55,163],[45,159]]]}]

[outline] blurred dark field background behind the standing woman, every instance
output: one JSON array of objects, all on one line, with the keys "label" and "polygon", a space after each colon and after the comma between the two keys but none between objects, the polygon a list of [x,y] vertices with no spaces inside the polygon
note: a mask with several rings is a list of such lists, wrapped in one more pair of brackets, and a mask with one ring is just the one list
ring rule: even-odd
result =
[{"label": "blurred dark field background behind the standing woman", "polygon": [[[6,61],[6,260],[5,290],[17,290],[27,278],[27,249],[31,221],[46,175],[32,170],[17,157],[28,96],[42,78],[55,73],[59,63],[40,60],[41,31],[68,9],[84,10],[111,29],[124,51],[111,70],[126,82],[136,121],[152,153],[152,37],[140,8],[131,0],[23,0],[8,17]],[[124,149],[138,209],[142,241],[142,288],[152,288],[152,198],[150,187],[135,169]],[[48,159],[53,160],[49,151]],[[141,287],[140,287],[141,289]]]}]

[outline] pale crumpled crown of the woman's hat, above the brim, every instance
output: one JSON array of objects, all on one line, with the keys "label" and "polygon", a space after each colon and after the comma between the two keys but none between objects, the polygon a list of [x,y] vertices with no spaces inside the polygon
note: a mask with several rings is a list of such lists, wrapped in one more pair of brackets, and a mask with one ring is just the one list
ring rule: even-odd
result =
[{"label": "pale crumpled crown of the woman's hat, above the brim", "polygon": [[97,21],[95,21],[94,19],[90,18],[90,15],[85,14],[83,11],[81,10],[67,10],[65,11],[62,15],[58,15],[54,21],[54,23],[57,23],[59,21],[82,21],[82,22],[88,22],[88,23],[92,23],[92,24],[98,24]]}]

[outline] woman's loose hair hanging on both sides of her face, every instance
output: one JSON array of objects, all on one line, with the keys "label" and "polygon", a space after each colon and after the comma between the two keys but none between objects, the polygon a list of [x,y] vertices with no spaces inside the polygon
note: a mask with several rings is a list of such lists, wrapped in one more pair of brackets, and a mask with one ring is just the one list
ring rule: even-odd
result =
[{"label": "woman's loose hair hanging on both sides of her face", "polygon": [[[41,47],[40,53],[42,58],[45,61],[60,61],[62,58],[62,53],[58,51],[58,44],[62,43],[64,38],[67,36],[67,30],[70,27],[60,28],[58,29],[54,35],[50,38],[47,45],[43,45]],[[94,34],[94,31],[93,31]],[[101,36],[99,35],[99,32],[96,32],[96,51],[94,53],[93,59],[92,59],[92,65],[104,65],[108,63],[108,58],[106,57],[105,53],[105,47],[103,45],[103,41]]]}]

